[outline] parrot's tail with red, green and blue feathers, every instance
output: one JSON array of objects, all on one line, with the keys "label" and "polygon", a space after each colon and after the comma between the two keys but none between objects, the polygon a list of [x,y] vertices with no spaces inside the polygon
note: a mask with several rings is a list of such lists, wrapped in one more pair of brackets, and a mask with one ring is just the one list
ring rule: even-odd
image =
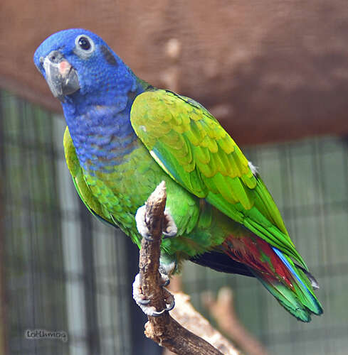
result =
[{"label": "parrot's tail with red, green and blue feathers", "polygon": [[280,250],[253,234],[228,236],[222,249],[234,261],[246,265],[298,320],[309,322],[312,314],[322,314],[322,306],[312,290],[317,285],[312,282],[315,279]]}]

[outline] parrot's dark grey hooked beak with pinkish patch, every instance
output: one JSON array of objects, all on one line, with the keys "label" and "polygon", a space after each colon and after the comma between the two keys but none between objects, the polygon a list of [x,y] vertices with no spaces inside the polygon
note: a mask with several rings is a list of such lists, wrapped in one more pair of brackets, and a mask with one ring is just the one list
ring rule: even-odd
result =
[{"label": "parrot's dark grey hooked beak with pinkish patch", "polygon": [[80,89],[78,73],[58,50],[53,50],[40,62],[46,72],[46,82],[54,97],[64,102],[64,96]]}]

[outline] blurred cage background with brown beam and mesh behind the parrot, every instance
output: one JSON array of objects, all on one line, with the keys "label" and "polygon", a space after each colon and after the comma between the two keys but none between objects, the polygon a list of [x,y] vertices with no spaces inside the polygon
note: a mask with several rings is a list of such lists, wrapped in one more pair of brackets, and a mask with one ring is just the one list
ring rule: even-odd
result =
[{"label": "blurred cage background with brown beam and mesh behind the parrot", "polygon": [[[348,354],[347,2],[145,3],[1,2],[0,354],[162,353],[132,300],[137,247],[80,202],[65,121],[31,59],[69,27],[98,33],[139,77],[216,115],[259,167],[325,312],[302,324],[256,280],[186,263],[194,306],[209,317],[201,292],[228,285],[270,354]],[[26,339],[27,329],[68,342]]]}]

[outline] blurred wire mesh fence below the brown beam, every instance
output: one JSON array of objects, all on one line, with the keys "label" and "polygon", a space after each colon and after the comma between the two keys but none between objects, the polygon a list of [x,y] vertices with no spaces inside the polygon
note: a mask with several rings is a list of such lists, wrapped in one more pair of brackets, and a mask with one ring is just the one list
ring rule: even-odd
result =
[{"label": "blurred wire mesh fence below the brown beam", "polygon": [[[1,92],[0,290],[6,351],[159,354],[159,347],[144,339],[144,317],[131,297],[137,249],[80,203],[65,167],[64,126],[58,116]],[[185,290],[204,312],[201,291],[230,285],[242,322],[272,354],[347,354],[347,141],[311,138],[244,152],[260,167],[292,240],[320,282],[317,294],[325,313],[302,324],[256,280],[192,263],[184,267]],[[66,332],[68,342],[26,339],[33,329]]]}]

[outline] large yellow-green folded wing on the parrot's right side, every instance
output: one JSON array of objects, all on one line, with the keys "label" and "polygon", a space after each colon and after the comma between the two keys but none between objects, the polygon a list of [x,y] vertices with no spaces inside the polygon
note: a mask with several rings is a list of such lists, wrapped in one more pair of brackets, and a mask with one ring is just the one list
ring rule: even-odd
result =
[{"label": "large yellow-green folded wing on the parrot's right side", "polygon": [[154,89],[137,96],[130,116],[137,136],[176,182],[307,268],[260,176],[201,104]]}]

